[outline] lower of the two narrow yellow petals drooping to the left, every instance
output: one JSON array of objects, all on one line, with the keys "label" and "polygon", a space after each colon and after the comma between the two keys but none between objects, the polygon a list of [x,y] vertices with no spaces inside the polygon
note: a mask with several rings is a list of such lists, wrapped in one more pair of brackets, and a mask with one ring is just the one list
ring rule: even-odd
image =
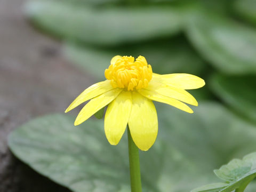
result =
[{"label": "lower of the two narrow yellow petals drooping to the left", "polygon": [[76,117],[75,125],[79,125],[91,117],[94,113],[113,101],[122,89],[116,88],[99,95],[89,101]]}]

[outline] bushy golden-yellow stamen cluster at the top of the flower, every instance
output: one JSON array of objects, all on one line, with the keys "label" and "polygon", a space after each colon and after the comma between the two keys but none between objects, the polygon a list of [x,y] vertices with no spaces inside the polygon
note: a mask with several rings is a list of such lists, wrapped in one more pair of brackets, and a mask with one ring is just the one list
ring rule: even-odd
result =
[{"label": "bushy golden-yellow stamen cluster at the top of the flower", "polygon": [[145,57],[139,56],[135,61],[130,56],[115,56],[111,60],[105,77],[111,80],[113,87],[127,88],[128,91],[139,90],[148,86],[152,78],[152,68],[148,65]]}]

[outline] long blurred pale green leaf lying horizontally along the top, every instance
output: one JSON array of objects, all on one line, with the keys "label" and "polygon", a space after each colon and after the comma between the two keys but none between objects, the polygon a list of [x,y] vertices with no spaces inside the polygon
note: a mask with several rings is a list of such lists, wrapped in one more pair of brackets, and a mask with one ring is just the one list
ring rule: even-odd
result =
[{"label": "long blurred pale green leaf lying horizontally along the top", "polygon": [[99,45],[170,36],[178,33],[181,15],[170,7],[107,7],[93,9],[68,2],[38,1],[27,4],[35,25],[52,35]]}]

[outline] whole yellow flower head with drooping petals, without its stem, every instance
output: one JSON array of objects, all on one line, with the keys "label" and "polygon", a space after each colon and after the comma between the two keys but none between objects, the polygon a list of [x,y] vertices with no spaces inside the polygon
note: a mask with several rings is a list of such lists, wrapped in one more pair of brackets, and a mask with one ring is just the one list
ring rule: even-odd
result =
[{"label": "whole yellow flower head with drooping petals, without its stem", "polygon": [[90,100],[78,114],[79,125],[108,105],[105,114],[105,133],[111,145],[117,145],[127,123],[137,147],[148,150],[155,142],[158,130],[154,101],[193,113],[185,103],[197,106],[196,99],[185,90],[205,85],[202,78],[190,74],[154,74],[145,57],[119,55],[111,59],[105,70],[106,81],[91,85],[66,109],[66,113]]}]

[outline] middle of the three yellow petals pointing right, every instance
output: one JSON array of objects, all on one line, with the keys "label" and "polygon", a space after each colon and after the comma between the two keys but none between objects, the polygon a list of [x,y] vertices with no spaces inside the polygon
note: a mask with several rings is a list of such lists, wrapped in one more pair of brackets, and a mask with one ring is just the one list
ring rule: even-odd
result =
[{"label": "middle of the three yellow petals pointing right", "polygon": [[190,93],[171,85],[164,85],[159,82],[150,81],[148,86],[145,89],[149,91],[155,91],[158,94],[162,94],[166,97],[170,97],[173,99],[177,99],[179,101],[186,102],[190,105],[194,105],[194,106],[198,105],[196,99]]}]

